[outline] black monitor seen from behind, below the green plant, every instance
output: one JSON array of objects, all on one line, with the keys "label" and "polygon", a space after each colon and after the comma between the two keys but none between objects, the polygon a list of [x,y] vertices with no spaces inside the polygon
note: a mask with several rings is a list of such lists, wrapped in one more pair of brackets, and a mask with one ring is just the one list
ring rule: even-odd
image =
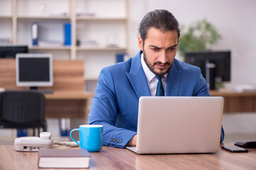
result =
[{"label": "black monitor seen from behind, below the green plant", "polygon": [[230,51],[185,52],[185,61],[200,67],[209,89],[215,89],[215,82],[230,81],[230,56]]}]

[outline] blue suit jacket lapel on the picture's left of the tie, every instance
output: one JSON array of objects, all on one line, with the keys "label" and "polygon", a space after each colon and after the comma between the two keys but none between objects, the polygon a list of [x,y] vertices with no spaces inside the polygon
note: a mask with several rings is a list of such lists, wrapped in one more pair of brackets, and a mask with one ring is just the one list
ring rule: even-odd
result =
[{"label": "blue suit jacket lapel on the picture's left of the tie", "polygon": [[131,69],[129,70],[129,72],[126,73],[138,98],[140,98],[141,96],[151,96],[151,93],[149,91],[149,85],[147,84],[146,76],[142,68],[142,63],[140,59],[141,53],[142,51],[140,51],[135,57],[133,57]]}]

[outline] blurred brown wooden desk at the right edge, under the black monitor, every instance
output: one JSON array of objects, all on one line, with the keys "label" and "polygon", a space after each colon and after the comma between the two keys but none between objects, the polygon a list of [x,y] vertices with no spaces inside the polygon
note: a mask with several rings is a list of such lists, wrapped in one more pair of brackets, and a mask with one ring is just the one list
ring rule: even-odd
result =
[{"label": "blurred brown wooden desk at the right edge, under the black monitor", "polygon": [[224,97],[224,113],[256,112],[256,92],[210,91],[210,96]]}]

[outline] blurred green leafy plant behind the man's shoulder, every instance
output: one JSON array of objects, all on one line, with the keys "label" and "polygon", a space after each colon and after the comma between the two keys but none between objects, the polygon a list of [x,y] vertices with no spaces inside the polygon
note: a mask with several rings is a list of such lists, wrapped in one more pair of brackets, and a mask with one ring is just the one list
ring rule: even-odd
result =
[{"label": "blurred green leafy plant behind the man's shoulder", "polygon": [[181,57],[188,51],[207,51],[210,46],[220,40],[220,35],[211,23],[203,19],[191,24],[188,28],[181,26],[181,38],[178,43],[178,52]]}]

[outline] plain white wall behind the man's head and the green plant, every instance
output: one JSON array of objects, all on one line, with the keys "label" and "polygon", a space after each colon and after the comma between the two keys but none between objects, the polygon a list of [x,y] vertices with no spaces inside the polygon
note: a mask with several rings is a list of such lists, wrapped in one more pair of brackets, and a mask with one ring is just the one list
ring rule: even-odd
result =
[{"label": "plain white wall behind the man's head and the green plant", "polygon": [[164,8],[176,16],[180,24],[206,18],[218,29],[222,39],[213,50],[231,50],[231,82],[256,84],[256,1],[255,0],[130,0],[129,50],[137,47],[137,26],[142,17],[156,8]]}]

